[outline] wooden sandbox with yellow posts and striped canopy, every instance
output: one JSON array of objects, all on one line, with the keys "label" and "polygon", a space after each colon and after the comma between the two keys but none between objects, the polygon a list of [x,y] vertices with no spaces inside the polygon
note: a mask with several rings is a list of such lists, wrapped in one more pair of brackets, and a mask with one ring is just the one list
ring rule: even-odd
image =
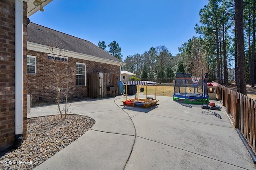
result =
[{"label": "wooden sandbox with yellow posts and striped canopy", "polygon": [[[128,99],[127,100],[127,85],[137,85],[137,96],[135,98],[132,99]],[[140,99],[139,98],[139,88],[138,86],[142,85],[142,86],[146,86],[146,98],[145,99]],[[147,97],[147,86],[148,85],[157,85],[156,82],[150,82],[150,81],[129,81],[126,82],[126,90],[125,90],[125,100],[123,100],[123,104],[124,105],[130,105],[130,106],[139,106],[139,107],[149,107],[149,106],[153,106],[155,105],[158,100],[156,100],[156,92],[155,92],[155,98],[148,98]]]}]

